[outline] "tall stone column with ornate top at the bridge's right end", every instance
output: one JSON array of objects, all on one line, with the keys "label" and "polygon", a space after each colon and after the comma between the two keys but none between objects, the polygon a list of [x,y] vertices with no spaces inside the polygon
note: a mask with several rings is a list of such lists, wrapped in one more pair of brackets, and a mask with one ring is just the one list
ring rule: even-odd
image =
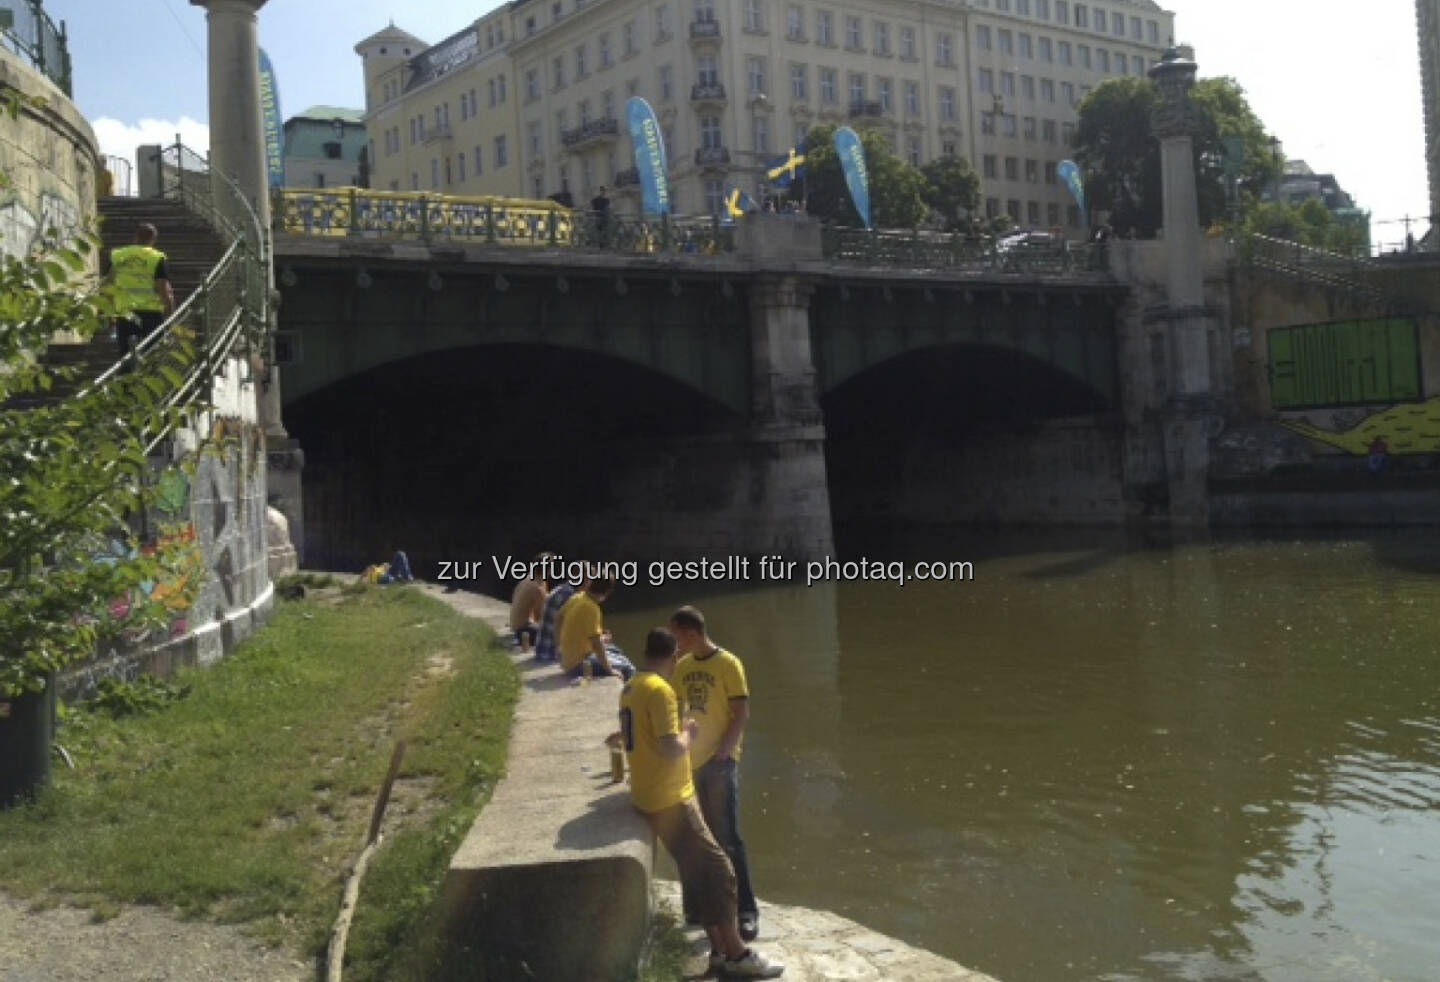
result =
[{"label": "tall stone column with ornate top at the bridge's right end", "polygon": [[1210,331],[1201,261],[1200,203],[1195,193],[1195,109],[1189,91],[1195,62],[1171,48],[1151,69],[1159,104],[1151,120],[1161,141],[1165,207],[1166,307],[1158,320],[1169,335],[1169,400],[1162,412],[1171,526],[1210,523],[1210,435],[1215,403],[1210,392]]}]

